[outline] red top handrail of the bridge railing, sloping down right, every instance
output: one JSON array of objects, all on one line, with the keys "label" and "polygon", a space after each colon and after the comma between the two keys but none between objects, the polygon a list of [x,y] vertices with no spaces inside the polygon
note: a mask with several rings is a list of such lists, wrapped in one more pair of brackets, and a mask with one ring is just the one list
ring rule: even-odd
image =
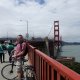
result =
[{"label": "red top handrail of the bridge railing, sloping down right", "polygon": [[[29,45],[29,49],[34,49],[33,46]],[[68,67],[64,66],[63,64],[59,63],[58,61],[50,58],[43,52],[39,51],[38,49],[35,49],[34,51],[36,55],[41,57],[45,62],[47,62],[51,67],[54,69],[58,70],[60,74],[63,76],[67,76],[70,78],[70,80],[80,80],[80,75],[76,73],[75,71],[69,69]]]}]

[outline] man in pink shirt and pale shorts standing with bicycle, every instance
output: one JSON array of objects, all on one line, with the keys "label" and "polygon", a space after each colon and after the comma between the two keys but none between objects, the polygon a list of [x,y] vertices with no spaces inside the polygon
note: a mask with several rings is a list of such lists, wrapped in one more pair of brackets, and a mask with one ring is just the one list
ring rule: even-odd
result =
[{"label": "man in pink shirt and pale shorts standing with bicycle", "polygon": [[17,46],[14,48],[14,57],[16,59],[16,68],[17,68],[17,75],[18,75],[18,80],[23,80],[23,54],[26,49],[26,42],[24,42],[24,38],[22,35],[17,36]]}]

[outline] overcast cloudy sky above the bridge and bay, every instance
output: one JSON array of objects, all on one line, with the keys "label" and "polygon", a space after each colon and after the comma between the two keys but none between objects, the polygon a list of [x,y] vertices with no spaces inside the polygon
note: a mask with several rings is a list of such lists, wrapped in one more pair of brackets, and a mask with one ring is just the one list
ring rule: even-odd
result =
[{"label": "overcast cloudy sky above the bridge and bay", "polygon": [[80,41],[80,0],[0,0],[0,37],[24,35],[27,20],[30,36],[46,37],[59,20],[62,39]]}]

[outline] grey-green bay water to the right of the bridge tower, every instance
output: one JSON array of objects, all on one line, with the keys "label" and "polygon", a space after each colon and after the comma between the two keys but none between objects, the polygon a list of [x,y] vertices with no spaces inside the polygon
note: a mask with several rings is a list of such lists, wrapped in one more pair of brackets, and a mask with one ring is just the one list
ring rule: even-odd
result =
[{"label": "grey-green bay water to the right of the bridge tower", "polygon": [[75,57],[75,61],[80,62],[80,45],[63,46],[61,56]]}]

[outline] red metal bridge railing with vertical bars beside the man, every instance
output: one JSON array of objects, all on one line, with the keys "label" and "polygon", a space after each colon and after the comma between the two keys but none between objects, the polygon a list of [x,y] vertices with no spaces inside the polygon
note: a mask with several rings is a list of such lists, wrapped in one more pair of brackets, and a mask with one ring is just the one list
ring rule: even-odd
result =
[{"label": "red metal bridge railing with vertical bars beside the man", "polygon": [[80,80],[80,75],[29,45],[29,59],[37,80]]}]

